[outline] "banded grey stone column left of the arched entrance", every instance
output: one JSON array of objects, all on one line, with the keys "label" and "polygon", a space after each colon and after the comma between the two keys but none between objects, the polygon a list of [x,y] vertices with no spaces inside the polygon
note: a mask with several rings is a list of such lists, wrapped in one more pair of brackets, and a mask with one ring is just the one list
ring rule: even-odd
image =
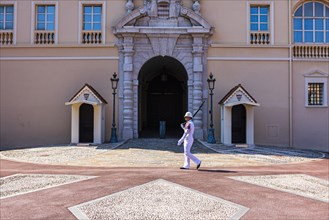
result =
[{"label": "banded grey stone column left of the arched entrance", "polygon": [[133,54],[134,37],[126,35],[123,39],[123,131],[122,138],[133,138],[134,101],[133,101]]}]

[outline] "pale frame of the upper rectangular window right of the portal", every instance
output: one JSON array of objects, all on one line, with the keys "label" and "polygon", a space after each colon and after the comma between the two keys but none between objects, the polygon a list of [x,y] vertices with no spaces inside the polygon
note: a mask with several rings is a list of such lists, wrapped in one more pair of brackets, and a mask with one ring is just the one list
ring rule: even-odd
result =
[{"label": "pale frame of the upper rectangular window right of the portal", "polygon": [[[275,44],[275,38],[274,38],[274,2],[273,1],[247,1],[247,27],[246,27],[246,33],[247,33],[247,44],[248,45],[254,45],[254,46],[266,46],[266,45],[274,45]],[[270,43],[269,44],[251,44],[250,43],[250,34],[254,32],[262,32],[262,31],[251,31],[250,30],[250,10],[251,6],[267,6],[269,8],[268,10],[268,32],[270,34]]]}]

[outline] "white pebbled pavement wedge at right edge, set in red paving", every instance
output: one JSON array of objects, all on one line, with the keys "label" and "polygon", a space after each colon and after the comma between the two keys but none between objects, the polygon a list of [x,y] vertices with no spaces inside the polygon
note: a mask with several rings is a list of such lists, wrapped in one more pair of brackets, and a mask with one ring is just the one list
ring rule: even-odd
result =
[{"label": "white pebbled pavement wedge at right edge, set in red paving", "polygon": [[317,177],[282,174],[229,178],[329,203],[329,181]]}]

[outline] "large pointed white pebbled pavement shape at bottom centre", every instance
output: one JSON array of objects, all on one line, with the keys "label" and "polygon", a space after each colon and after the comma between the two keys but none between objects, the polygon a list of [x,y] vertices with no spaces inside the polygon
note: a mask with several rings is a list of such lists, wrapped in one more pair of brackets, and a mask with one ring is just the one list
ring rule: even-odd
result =
[{"label": "large pointed white pebbled pavement shape at bottom centre", "polygon": [[249,209],[163,179],[88,201],[77,219],[240,219]]}]

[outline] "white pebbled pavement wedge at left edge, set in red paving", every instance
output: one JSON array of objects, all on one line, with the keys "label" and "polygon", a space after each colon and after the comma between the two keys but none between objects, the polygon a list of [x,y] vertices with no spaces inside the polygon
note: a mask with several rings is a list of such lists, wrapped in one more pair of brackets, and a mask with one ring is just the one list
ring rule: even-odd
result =
[{"label": "white pebbled pavement wedge at left edge, set in red paving", "polygon": [[0,199],[22,195],[69,183],[95,178],[95,176],[55,174],[15,174],[0,178]]}]

